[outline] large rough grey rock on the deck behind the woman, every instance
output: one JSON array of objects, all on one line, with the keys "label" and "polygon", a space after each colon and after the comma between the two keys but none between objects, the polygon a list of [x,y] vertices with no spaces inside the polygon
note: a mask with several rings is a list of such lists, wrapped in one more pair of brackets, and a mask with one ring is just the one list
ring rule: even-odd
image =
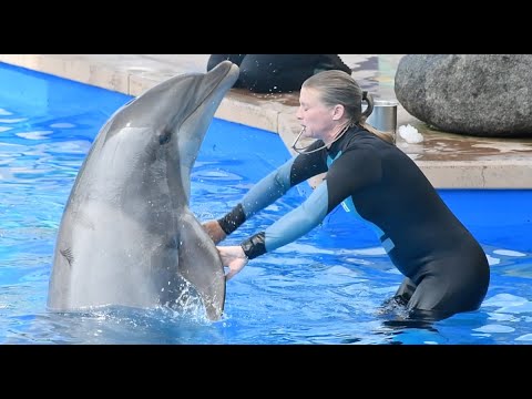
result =
[{"label": "large rough grey rock on the deck behind the woman", "polygon": [[395,91],[405,110],[437,130],[532,137],[532,54],[407,54]]}]

